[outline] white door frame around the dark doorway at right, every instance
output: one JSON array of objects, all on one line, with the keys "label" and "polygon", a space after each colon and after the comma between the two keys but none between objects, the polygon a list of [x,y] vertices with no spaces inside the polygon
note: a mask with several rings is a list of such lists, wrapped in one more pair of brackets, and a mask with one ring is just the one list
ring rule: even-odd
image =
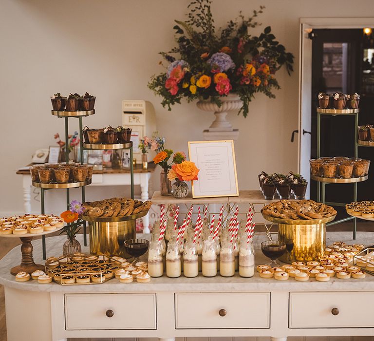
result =
[{"label": "white door frame around the dark doorway at right", "polygon": [[[309,158],[311,136],[302,134],[311,131],[311,88],[312,88],[312,41],[308,32],[317,28],[364,28],[374,27],[374,18],[300,18],[299,27],[299,134],[298,172],[310,182]],[[302,150],[305,152],[302,153]],[[310,187],[306,196],[309,197]]]}]

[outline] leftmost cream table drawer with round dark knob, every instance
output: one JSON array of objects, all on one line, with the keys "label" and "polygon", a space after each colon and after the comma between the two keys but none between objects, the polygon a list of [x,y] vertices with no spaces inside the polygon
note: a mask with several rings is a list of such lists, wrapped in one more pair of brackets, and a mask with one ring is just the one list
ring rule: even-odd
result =
[{"label": "leftmost cream table drawer with round dark knob", "polygon": [[157,329],[156,294],[66,294],[65,327],[66,330]]}]

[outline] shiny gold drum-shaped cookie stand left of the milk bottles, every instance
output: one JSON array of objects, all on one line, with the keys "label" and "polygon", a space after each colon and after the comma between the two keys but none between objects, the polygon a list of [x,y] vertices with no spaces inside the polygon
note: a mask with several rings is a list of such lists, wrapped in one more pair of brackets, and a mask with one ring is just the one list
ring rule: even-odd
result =
[{"label": "shiny gold drum-shaped cookie stand left of the milk bottles", "polygon": [[131,258],[126,252],[124,242],[135,239],[136,219],[146,216],[148,211],[123,217],[89,217],[82,215],[90,227],[90,253],[108,257]]}]

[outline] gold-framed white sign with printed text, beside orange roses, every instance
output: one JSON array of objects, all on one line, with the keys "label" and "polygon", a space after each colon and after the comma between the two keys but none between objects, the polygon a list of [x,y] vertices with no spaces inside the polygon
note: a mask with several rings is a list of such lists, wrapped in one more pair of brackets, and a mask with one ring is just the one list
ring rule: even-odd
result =
[{"label": "gold-framed white sign with printed text, beside orange roses", "polygon": [[238,196],[234,141],[188,142],[189,160],[199,171],[192,181],[192,198]]}]

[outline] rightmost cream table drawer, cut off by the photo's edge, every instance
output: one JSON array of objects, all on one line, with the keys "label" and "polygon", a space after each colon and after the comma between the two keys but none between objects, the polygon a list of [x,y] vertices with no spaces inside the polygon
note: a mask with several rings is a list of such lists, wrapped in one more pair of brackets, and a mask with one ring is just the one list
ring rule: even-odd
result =
[{"label": "rightmost cream table drawer, cut off by the photo's edge", "polygon": [[374,327],[374,292],[291,292],[290,328]]}]

